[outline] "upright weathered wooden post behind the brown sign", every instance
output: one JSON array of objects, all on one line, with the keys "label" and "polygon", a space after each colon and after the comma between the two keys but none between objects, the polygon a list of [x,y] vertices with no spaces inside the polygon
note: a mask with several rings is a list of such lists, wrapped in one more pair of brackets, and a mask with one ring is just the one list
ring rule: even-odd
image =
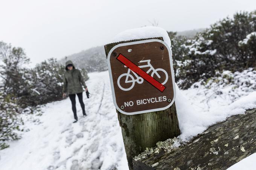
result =
[{"label": "upright weathered wooden post behind the brown sign", "polygon": [[[163,41],[162,37],[149,39]],[[111,48],[117,44],[142,40],[146,39],[107,44],[104,46],[106,56],[108,56]],[[125,115],[117,111],[117,116],[122,129],[123,143],[130,170],[133,170],[133,157],[143,152],[146,147],[154,147],[158,141],[180,135],[175,102],[170,108],[163,111],[136,115]]]}]

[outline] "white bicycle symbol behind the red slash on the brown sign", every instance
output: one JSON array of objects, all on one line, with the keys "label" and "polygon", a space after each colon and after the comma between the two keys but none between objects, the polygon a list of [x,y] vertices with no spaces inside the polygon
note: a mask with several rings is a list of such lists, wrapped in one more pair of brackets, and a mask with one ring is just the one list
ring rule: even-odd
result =
[{"label": "white bicycle symbol behind the red slash on the brown sign", "polygon": [[[166,72],[164,69],[162,69],[162,68],[154,69],[153,66],[150,64],[150,60],[141,60],[141,61],[140,61],[140,63],[145,63],[145,62],[147,62],[147,65],[139,66],[139,68],[146,68],[146,67],[149,67],[149,69],[148,69],[148,71],[147,71],[146,73],[148,74],[149,72],[152,71],[151,77],[153,77],[154,74],[155,74],[155,75],[157,75],[158,78],[161,78],[160,75],[159,75],[157,72],[164,72],[164,73],[165,73],[165,76],[166,76],[166,77],[165,77],[165,81],[163,81],[162,83],[160,82],[161,84],[164,85],[164,84],[167,82],[167,80],[168,80],[168,74],[167,74],[167,72]],[[126,67],[126,66],[125,66],[125,67]],[[133,75],[130,74],[130,72],[133,72],[133,71],[131,71],[130,69],[128,69],[128,72],[127,72],[127,73],[121,74],[121,75],[118,77],[118,79],[117,79],[117,85],[118,85],[118,87],[119,87],[121,90],[123,90],[123,91],[129,91],[129,90],[133,89],[133,87],[134,87],[134,85],[135,85],[135,82],[137,82],[138,84],[142,84],[143,81],[144,81],[144,79],[143,79],[142,77],[140,77],[140,76],[137,75],[135,72],[133,72],[133,74],[134,74],[135,77],[136,77],[136,80],[135,80],[134,77],[133,77]],[[122,77],[124,77],[124,76],[126,76],[126,77],[125,77],[125,83],[132,83],[131,86],[128,87],[128,88],[123,88],[123,87],[120,85],[120,79],[121,79]],[[129,77],[131,78],[131,80],[128,80]]]}]

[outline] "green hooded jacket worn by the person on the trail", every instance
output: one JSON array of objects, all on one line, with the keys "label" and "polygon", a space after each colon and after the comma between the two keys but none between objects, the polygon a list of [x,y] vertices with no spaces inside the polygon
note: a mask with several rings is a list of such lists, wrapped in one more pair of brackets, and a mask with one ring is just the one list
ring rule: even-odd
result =
[{"label": "green hooded jacket worn by the person on the trail", "polygon": [[73,65],[71,60],[68,60],[66,62],[66,72],[63,76],[64,84],[62,92],[67,93],[67,95],[82,93],[84,91],[82,85],[84,86],[84,88],[87,87],[84,82],[84,77],[82,77],[82,74],[78,69],[75,69],[74,65],[72,70],[67,69],[67,65],[69,64]]}]

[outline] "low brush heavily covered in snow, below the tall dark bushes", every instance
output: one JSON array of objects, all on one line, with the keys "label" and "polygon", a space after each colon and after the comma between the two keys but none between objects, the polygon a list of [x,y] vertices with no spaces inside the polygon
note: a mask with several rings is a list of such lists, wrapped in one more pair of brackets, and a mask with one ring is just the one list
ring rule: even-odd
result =
[{"label": "low brush heavily covered in snow, below the tall dark bushes", "polygon": [[231,104],[254,91],[256,91],[256,69],[248,68],[242,72],[218,72],[215,77],[194,83],[188,89],[187,97],[196,100],[203,110],[208,110],[223,104]]}]

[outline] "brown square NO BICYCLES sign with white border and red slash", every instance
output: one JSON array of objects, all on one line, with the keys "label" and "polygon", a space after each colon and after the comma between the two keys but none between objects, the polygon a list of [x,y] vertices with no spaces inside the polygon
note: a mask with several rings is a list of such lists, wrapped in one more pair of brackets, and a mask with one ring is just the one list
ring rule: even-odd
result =
[{"label": "brown square NO BICYCLES sign with white border and red slash", "polygon": [[175,99],[172,54],[158,39],[128,42],[108,53],[114,105],[123,114],[169,108]]}]

